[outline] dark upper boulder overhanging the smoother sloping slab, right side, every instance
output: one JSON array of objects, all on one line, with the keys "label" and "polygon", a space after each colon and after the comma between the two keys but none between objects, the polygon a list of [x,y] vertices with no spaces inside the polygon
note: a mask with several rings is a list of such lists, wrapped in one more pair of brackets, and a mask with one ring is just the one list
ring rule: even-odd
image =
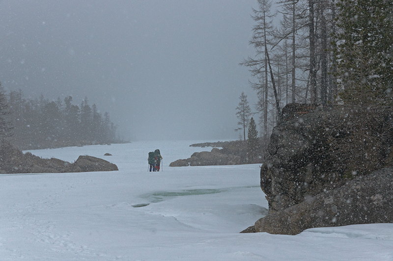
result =
[{"label": "dark upper boulder overhanging the smoother sloping slab, right side", "polygon": [[269,213],[393,163],[391,107],[288,104],[282,114],[260,171]]}]

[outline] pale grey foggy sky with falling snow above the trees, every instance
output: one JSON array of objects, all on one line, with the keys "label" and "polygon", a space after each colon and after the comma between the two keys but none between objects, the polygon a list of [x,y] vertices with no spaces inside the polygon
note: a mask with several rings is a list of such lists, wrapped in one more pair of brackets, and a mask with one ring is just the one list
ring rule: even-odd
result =
[{"label": "pale grey foggy sky with falling snow above the trees", "polygon": [[0,82],[86,96],[132,140],[236,139],[256,0],[0,0]]}]

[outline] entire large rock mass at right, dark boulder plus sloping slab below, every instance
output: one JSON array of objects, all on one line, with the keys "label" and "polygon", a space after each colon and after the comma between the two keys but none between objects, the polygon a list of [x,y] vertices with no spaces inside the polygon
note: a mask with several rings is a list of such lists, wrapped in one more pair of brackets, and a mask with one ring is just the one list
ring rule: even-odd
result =
[{"label": "entire large rock mass at right, dark boulder plus sloping slab below", "polygon": [[393,109],[288,104],[260,171],[267,216],[244,233],[393,222]]}]

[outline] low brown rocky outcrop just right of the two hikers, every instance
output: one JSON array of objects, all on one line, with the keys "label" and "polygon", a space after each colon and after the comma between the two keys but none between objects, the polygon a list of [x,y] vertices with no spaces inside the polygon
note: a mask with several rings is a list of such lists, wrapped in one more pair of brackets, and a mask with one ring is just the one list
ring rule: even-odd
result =
[{"label": "low brown rocky outcrop just right of the two hikers", "polygon": [[240,164],[240,157],[231,154],[222,154],[220,149],[213,148],[211,152],[196,152],[187,159],[178,159],[169,164],[169,167],[185,166],[211,166]]}]

